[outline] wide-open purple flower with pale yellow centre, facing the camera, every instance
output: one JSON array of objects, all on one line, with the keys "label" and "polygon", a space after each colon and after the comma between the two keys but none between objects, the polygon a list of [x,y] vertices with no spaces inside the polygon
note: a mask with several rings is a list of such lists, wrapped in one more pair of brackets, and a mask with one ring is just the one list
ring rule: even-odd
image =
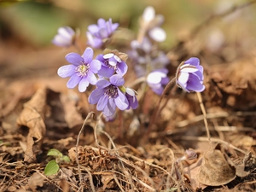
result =
[{"label": "wide-open purple flower with pale yellow centre, facing the camera", "polygon": [[66,60],[72,65],[62,66],[58,69],[61,78],[70,77],[67,88],[73,89],[79,84],[79,91],[84,92],[89,84],[96,84],[95,73],[98,73],[102,64],[93,60],[93,49],[86,48],[83,57],[77,53],[69,53]]}]

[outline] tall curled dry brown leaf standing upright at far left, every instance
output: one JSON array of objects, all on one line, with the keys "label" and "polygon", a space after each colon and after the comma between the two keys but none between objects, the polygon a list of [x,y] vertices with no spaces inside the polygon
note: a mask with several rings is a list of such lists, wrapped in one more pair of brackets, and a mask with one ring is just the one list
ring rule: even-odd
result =
[{"label": "tall curled dry brown leaf standing upright at far left", "polygon": [[45,135],[45,106],[47,88],[37,90],[32,99],[24,104],[24,109],[17,119],[17,124],[27,126],[29,132],[26,141],[26,152],[24,160],[26,162],[36,161],[36,155],[40,151]]}]

